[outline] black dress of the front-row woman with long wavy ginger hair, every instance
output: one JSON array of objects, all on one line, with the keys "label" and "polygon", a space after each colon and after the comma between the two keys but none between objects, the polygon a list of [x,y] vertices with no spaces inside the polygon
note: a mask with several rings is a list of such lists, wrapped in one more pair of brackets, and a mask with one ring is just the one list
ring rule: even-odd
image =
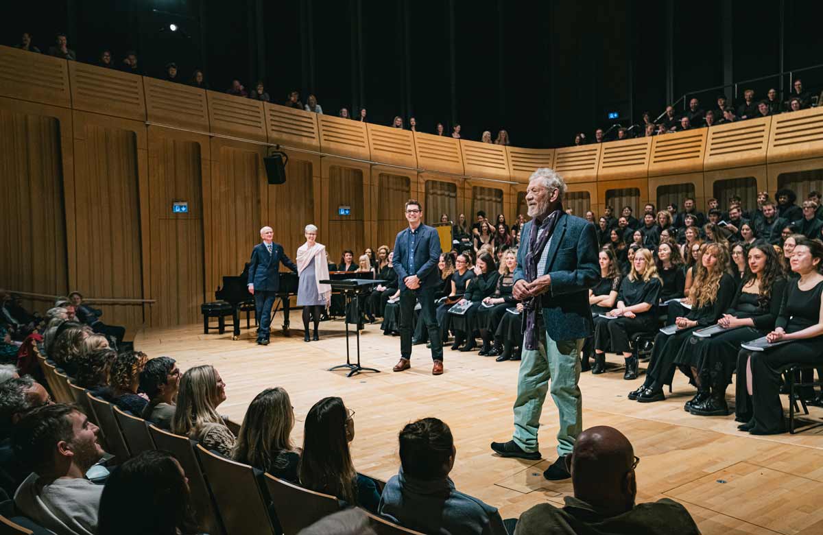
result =
[{"label": "black dress of the front-row woman with long wavy ginger hair", "polygon": [[[649,368],[646,370],[646,380],[644,381],[646,388],[657,392],[663,389],[664,384],[672,384],[675,364],[697,367],[697,363],[692,360],[689,351],[681,351],[681,349],[686,346],[691,333],[696,329],[709,327],[709,325],[717,323],[720,316],[732,304],[736,288],[734,278],[728,273],[723,273],[723,277],[720,277],[720,284],[714,301],[701,307],[694,306],[686,314],[686,319],[697,322],[696,327],[677,329],[674,334],[658,333],[657,337],[654,338],[652,358],[649,361]],[[691,377],[691,372],[688,375]]]}]

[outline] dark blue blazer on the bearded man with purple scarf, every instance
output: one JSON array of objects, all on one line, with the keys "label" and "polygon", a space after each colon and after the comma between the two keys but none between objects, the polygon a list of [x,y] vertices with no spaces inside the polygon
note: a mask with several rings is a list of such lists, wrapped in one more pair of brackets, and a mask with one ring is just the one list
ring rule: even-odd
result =
[{"label": "dark blue blazer on the bearded man with purple scarf", "polygon": [[[528,221],[523,226],[515,282],[526,277],[528,236],[533,224]],[[598,254],[594,226],[582,217],[560,214],[551,235],[546,271],[540,273],[551,275],[551,286],[541,295],[541,305],[546,333],[555,342],[588,337],[594,331],[588,289],[600,281]]]}]

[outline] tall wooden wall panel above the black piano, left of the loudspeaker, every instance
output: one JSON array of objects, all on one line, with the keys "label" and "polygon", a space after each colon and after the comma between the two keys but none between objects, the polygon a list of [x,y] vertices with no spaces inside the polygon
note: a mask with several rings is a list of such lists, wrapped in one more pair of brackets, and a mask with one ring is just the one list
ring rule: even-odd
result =
[{"label": "tall wooden wall panel above the black piano, left of the loudspeaker", "polygon": [[261,188],[266,181],[261,146],[212,138],[212,165],[203,181],[203,233],[207,300],[224,275],[239,275],[260,242]]}]

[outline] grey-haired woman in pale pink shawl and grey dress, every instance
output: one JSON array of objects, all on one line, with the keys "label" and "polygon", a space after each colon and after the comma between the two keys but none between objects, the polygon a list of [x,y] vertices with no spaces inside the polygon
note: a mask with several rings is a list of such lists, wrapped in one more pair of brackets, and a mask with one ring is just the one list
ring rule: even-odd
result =
[{"label": "grey-haired woman in pale pink shawl and grey dress", "polygon": [[320,314],[332,298],[332,286],[320,284],[328,280],[326,246],[317,243],[317,227],[306,225],[306,243],[297,249],[297,306],[303,307],[303,341],[309,342],[309,314],[314,320],[314,340],[319,340]]}]

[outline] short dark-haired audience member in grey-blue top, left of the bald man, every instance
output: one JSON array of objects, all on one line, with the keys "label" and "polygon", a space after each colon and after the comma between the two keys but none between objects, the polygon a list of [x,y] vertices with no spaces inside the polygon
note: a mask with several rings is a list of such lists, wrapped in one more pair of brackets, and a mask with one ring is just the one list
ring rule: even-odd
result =
[{"label": "short dark-haired audience member in grey-blue top, left of the bald man", "polygon": [[400,431],[398,475],[388,480],[379,513],[423,533],[507,535],[497,509],[457,491],[449,472],[457,449],[452,431],[437,418],[424,418]]}]

